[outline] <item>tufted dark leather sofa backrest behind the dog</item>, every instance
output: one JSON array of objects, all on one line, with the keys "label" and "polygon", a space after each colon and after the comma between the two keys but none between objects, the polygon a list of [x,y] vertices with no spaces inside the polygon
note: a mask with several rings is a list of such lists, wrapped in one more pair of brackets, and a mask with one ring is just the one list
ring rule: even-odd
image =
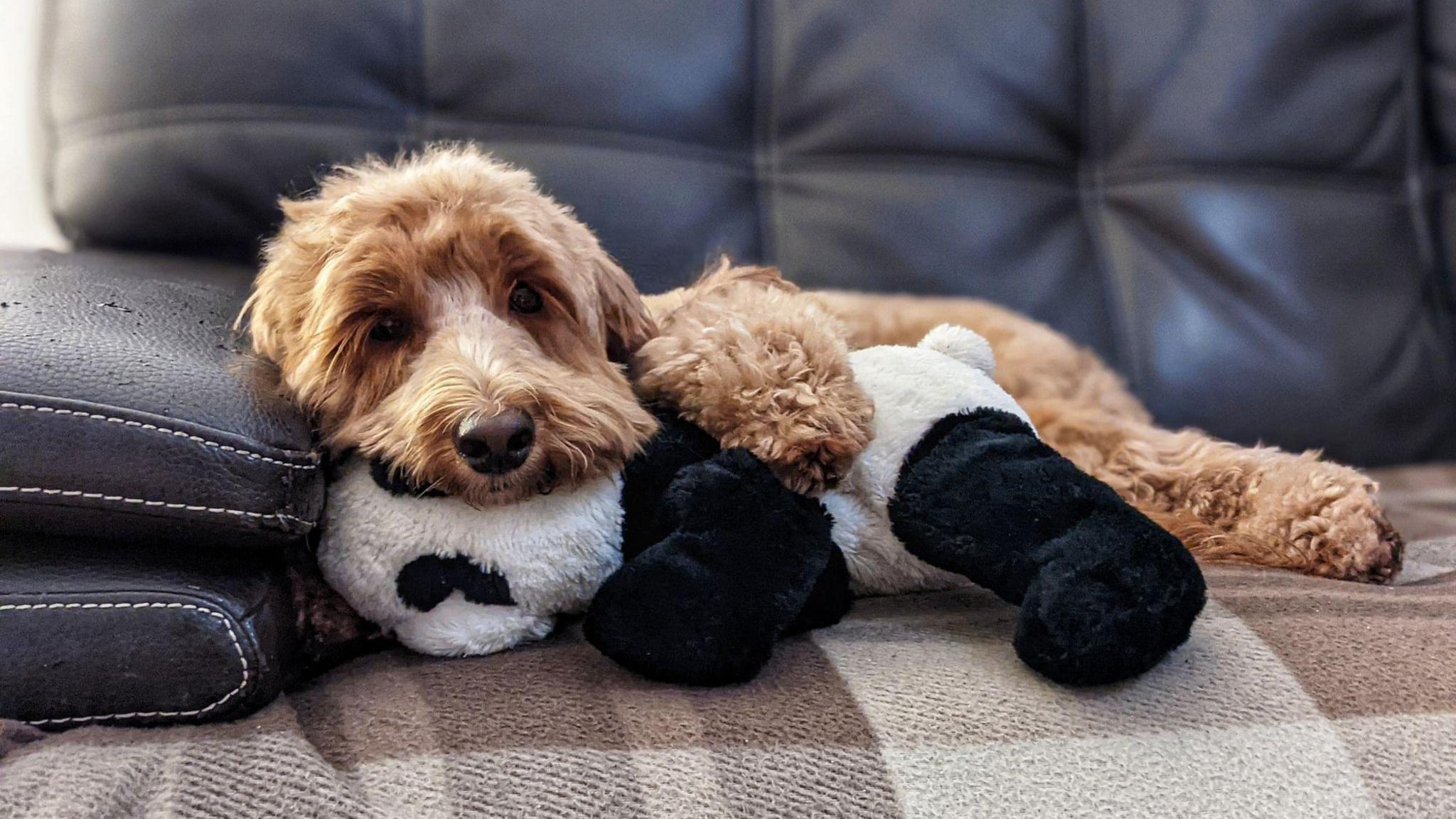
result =
[{"label": "tufted dark leather sofa backrest behind the dog", "polygon": [[58,0],[52,198],[83,243],[246,254],[325,163],[475,138],[648,289],[728,251],[987,296],[1095,347],[1168,424],[1456,456],[1452,15]]}]

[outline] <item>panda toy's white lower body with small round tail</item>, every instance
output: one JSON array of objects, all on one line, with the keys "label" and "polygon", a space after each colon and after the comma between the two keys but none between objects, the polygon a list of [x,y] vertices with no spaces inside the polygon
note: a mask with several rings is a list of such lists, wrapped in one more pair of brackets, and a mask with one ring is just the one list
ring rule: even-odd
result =
[{"label": "panda toy's white lower body with small round tail", "polygon": [[983,407],[1031,426],[1026,412],[990,373],[990,344],[970,329],[941,325],[916,347],[866,347],[849,356],[855,380],[875,402],[874,440],[840,485],[824,493],[831,535],[849,564],[856,595],[946,589],[964,577],[910,552],[890,528],[890,498],[900,466],[936,421]]}]

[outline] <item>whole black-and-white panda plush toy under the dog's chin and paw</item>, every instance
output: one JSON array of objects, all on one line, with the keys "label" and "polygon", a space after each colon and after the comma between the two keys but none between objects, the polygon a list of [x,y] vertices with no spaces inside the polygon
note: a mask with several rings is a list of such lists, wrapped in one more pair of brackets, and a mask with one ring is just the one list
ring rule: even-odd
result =
[{"label": "whole black-and-white panda plush toy under the dog's chin and paw", "polygon": [[818,498],[660,412],[622,474],[499,509],[345,463],[320,568],[416,651],[499,651],[585,609],[604,654],[693,685],[750,679],[855,595],[967,580],[1021,606],[1016,653],[1056,682],[1124,679],[1187,640],[1204,603],[1192,557],[1037,437],[981,337],[945,325],[850,364],[874,439]]}]

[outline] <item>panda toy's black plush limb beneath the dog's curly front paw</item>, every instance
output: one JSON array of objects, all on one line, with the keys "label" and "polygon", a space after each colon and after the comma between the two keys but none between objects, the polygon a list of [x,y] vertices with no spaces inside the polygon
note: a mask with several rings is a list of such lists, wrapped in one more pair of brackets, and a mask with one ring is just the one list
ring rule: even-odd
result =
[{"label": "panda toy's black plush limb beneath the dog's curly front paw", "polygon": [[671,530],[597,592],[587,640],[652,679],[753,678],[831,565],[828,517],[744,450],[686,466],[662,503]]}]

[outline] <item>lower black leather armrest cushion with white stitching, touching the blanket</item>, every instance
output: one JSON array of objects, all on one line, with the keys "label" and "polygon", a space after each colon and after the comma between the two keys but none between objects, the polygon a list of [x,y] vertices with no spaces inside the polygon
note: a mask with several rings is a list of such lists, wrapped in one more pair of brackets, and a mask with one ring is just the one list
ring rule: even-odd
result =
[{"label": "lower black leather armrest cushion with white stitching, touching the blanket", "polygon": [[281,552],[0,535],[0,717],[226,720],[282,686],[294,611]]}]

